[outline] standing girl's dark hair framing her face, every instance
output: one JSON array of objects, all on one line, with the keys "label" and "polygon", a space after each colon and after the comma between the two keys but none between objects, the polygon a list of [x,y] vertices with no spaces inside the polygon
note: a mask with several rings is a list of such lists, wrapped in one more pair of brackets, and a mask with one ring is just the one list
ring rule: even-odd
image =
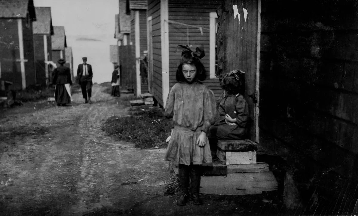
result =
[{"label": "standing girl's dark hair framing her face", "polygon": [[183,65],[193,65],[197,68],[197,75],[195,76],[195,79],[198,79],[200,81],[205,80],[206,78],[206,70],[204,65],[200,62],[199,58],[193,57],[190,53],[184,53],[182,55],[182,59],[180,60],[180,65],[178,66],[178,69],[176,70],[175,78],[178,82],[180,81],[186,81],[184,75],[183,75]]}]

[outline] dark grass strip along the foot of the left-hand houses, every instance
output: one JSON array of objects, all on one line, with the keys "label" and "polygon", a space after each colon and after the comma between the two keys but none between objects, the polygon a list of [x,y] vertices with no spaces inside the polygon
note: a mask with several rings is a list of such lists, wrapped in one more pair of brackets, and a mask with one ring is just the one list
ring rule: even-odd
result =
[{"label": "dark grass strip along the foot of the left-hand houses", "polygon": [[54,87],[29,87],[25,90],[17,91],[16,100],[20,100],[22,102],[38,101],[47,99],[49,97],[54,97],[54,94]]}]

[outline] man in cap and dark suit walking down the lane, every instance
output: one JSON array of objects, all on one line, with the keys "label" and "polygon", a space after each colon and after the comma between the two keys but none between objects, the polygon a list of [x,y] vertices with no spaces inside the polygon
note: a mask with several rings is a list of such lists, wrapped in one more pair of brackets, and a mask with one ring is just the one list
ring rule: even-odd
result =
[{"label": "man in cap and dark suit walking down the lane", "polygon": [[81,85],[84,103],[91,103],[92,94],[92,66],[87,64],[87,57],[82,58],[83,64],[77,68],[78,84]]}]

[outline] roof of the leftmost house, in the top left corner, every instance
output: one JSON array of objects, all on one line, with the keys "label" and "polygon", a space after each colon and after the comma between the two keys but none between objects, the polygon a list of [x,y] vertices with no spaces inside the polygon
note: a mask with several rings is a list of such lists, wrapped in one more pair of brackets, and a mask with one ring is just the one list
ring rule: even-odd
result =
[{"label": "roof of the leftmost house, in the top left corner", "polygon": [[33,0],[0,0],[0,18],[26,18],[36,20]]}]

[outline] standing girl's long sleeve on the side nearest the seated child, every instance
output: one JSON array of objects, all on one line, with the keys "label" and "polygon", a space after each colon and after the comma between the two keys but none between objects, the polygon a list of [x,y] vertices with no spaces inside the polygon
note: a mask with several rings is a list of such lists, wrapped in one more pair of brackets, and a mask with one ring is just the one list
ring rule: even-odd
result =
[{"label": "standing girl's long sleeve on the side nearest the seated child", "polygon": [[210,89],[204,91],[203,127],[202,131],[209,132],[210,127],[215,123],[216,101],[214,93]]}]

